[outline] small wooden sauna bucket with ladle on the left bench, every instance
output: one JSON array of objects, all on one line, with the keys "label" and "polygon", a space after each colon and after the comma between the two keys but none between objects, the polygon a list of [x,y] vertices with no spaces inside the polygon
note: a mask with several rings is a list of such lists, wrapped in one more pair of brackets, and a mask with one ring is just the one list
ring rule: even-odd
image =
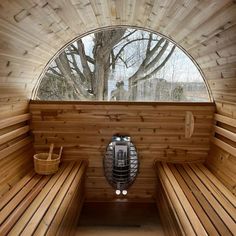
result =
[{"label": "small wooden sauna bucket with ladle on the left bench", "polygon": [[34,155],[34,170],[41,175],[51,175],[58,171],[62,149],[60,153],[53,154],[54,144],[51,144],[49,153],[38,153]]}]

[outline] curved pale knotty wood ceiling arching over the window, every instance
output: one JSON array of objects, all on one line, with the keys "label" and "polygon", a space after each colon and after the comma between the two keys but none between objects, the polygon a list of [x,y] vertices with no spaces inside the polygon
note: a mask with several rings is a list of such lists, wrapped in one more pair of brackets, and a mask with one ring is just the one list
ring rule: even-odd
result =
[{"label": "curved pale knotty wood ceiling arching over the window", "polygon": [[199,64],[214,100],[236,103],[233,0],[1,0],[0,98],[29,98],[61,47],[88,31],[115,25],[170,37]]}]

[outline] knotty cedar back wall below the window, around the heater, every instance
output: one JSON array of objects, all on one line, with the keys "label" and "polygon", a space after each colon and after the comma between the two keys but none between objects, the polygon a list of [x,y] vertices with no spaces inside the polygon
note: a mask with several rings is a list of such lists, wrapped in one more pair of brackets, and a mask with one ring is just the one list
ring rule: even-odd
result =
[{"label": "knotty cedar back wall below the window, around the heater", "polygon": [[[208,155],[214,104],[31,102],[36,152],[64,146],[63,160],[88,159],[87,200],[112,200],[103,173],[103,156],[112,135],[130,135],[137,147],[140,173],[128,199],[152,201],[154,160],[203,162]],[[185,112],[194,115],[193,136],[185,138]]]}]

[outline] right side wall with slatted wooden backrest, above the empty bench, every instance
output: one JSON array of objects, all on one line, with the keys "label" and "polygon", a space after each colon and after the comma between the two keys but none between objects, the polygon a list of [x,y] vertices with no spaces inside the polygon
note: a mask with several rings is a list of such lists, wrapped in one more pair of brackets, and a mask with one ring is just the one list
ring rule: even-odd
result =
[{"label": "right side wall with slatted wooden backrest, above the empty bench", "polygon": [[236,105],[217,103],[207,167],[236,195]]}]

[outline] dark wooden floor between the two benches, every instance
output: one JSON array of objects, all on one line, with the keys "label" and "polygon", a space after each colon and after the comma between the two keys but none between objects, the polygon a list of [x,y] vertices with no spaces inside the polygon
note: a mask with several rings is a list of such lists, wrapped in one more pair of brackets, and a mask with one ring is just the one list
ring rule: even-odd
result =
[{"label": "dark wooden floor between the two benches", "polygon": [[163,236],[153,203],[85,203],[77,230],[80,236]]}]

